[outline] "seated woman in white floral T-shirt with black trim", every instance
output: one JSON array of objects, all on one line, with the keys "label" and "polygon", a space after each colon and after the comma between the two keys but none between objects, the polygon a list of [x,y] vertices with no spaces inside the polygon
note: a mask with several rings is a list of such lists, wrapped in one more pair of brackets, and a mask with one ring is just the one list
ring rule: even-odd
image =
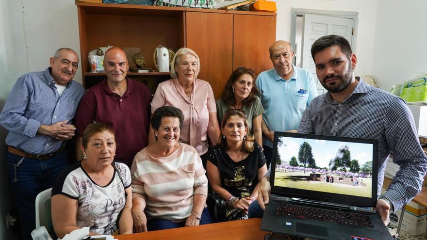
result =
[{"label": "seated woman in white floral T-shirt with black trim", "polygon": [[83,226],[90,235],[132,233],[131,171],[113,162],[114,131],[89,124],[82,136],[83,160],[66,168],[52,189],[52,223],[59,238]]}]

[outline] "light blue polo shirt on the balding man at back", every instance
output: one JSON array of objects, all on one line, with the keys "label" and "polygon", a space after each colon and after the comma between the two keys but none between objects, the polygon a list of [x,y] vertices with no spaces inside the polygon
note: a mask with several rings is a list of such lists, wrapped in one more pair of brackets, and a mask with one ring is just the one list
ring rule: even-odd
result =
[{"label": "light blue polo shirt on the balding man at back", "polygon": [[[298,128],[302,113],[317,96],[312,74],[294,65],[292,67],[294,73],[287,81],[274,68],[260,73],[256,80],[264,108],[263,120],[270,131]],[[273,143],[264,137],[263,144],[273,147]]]}]

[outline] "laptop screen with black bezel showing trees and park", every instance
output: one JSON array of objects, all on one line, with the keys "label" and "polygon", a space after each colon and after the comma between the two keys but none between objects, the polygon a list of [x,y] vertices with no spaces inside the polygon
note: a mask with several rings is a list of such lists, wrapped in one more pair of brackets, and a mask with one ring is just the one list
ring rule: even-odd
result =
[{"label": "laptop screen with black bezel showing trees and park", "polygon": [[376,140],[275,132],[271,167],[275,194],[352,206],[377,200]]}]

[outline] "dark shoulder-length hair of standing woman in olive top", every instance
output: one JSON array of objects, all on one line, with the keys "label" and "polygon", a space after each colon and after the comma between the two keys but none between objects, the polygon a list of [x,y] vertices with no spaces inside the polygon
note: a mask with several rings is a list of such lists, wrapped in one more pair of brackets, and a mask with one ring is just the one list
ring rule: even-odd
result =
[{"label": "dark shoulder-length hair of standing woman in olive top", "polygon": [[225,104],[228,105],[234,105],[236,104],[236,99],[234,98],[233,88],[231,87],[234,82],[236,82],[240,76],[244,74],[249,74],[252,77],[253,84],[252,84],[252,90],[249,93],[249,96],[247,96],[242,101],[242,105],[250,105],[255,101],[256,96],[260,96],[260,91],[258,90],[257,85],[255,84],[255,73],[252,69],[246,68],[246,67],[238,67],[236,70],[231,73],[231,76],[227,83],[224,86],[224,90],[222,91],[221,99],[224,101]]}]

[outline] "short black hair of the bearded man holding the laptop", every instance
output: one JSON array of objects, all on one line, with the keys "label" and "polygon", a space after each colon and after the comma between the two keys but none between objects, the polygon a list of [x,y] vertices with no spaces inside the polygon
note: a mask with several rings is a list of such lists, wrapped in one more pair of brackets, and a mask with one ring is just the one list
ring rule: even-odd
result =
[{"label": "short black hair of the bearded man holding the laptop", "polygon": [[351,58],[353,51],[351,50],[350,43],[345,39],[345,37],[338,35],[327,35],[317,39],[312,45],[312,58],[315,62],[314,55],[316,53],[323,51],[325,48],[338,45],[341,48],[341,51],[347,56],[348,59]]}]

